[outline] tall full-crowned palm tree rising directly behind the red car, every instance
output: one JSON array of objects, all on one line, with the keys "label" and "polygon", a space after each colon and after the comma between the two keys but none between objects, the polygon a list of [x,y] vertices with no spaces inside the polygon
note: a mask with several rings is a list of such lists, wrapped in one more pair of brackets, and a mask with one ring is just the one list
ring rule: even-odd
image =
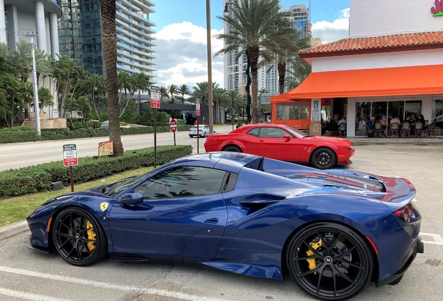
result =
[{"label": "tall full-crowned palm tree rising directly behind the red car", "polygon": [[[217,54],[238,49],[238,59],[246,53],[251,63],[252,76],[252,122],[258,121],[258,59],[264,49],[277,51],[278,41],[285,40],[291,31],[289,13],[280,11],[279,0],[235,0],[231,7],[233,15],[218,17],[228,24],[229,31],[217,35],[224,39],[226,47]],[[245,47],[244,47],[245,46]]]}]

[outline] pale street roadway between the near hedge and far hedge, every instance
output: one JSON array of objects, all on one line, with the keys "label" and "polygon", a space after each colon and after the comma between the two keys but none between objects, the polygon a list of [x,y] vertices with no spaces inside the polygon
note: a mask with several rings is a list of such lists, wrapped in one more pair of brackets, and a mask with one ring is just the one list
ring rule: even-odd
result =
[{"label": "pale street roadway between the near hedge and far hedge", "polygon": [[[232,125],[215,127],[214,130],[219,133],[231,132]],[[109,137],[0,144],[0,171],[63,160],[63,144],[76,144],[79,157],[98,155],[99,142],[107,140]],[[154,146],[154,134],[125,135],[121,137],[121,140],[125,151]],[[205,138],[200,138],[199,151],[201,153],[205,152],[204,143]],[[157,133],[157,146],[173,144],[171,132]],[[196,153],[197,139],[190,138],[187,131],[176,132],[176,144],[191,144]]]}]

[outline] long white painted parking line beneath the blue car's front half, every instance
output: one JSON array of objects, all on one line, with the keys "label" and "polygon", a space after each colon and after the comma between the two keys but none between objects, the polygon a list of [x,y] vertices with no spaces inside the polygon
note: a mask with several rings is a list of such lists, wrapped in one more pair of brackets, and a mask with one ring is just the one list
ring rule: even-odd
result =
[{"label": "long white painted parking line beneath the blue car's front half", "polygon": [[[87,286],[96,286],[96,287],[100,287],[100,288],[110,288],[110,289],[115,289],[118,291],[131,291],[131,292],[137,292],[137,293],[147,293],[150,295],[161,295],[164,297],[178,298],[178,299],[184,299],[184,300],[189,300],[189,301],[229,301],[226,299],[209,298],[209,297],[203,297],[203,296],[198,296],[198,295],[189,295],[187,293],[166,291],[166,290],[157,289],[157,288],[139,288],[137,286],[125,286],[125,285],[119,285],[119,284],[111,284],[109,282],[94,281],[94,280],[80,279],[80,278],[60,276],[60,275],[52,275],[52,274],[48,274],[48,273],[34,272],[31,270],[9,268],[6,266],[1,266],[1,265],[0,265],[0,272],[8,272],[11,274],[16,274],[16,275],[24,275],[24,276],[29,276],[29,277],[38,277],[38,278],[43,278],[43,279],[64,281],[64,282],[69,282],[69,283],[73,283],[73,284],[83,284],[83,285],[87,285]],[[31,299],[31,300],[33,300],[33,299]]]}]

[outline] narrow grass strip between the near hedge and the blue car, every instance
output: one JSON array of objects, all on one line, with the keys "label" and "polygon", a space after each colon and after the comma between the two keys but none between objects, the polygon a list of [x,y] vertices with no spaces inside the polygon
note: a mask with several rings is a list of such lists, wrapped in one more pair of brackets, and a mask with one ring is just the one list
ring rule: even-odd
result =
[{"label": "narrow grass strip between the near hedge and the blue car", "polygon": [[[102,185],[104,183],[111,183],[122,178],[127,178],[130,176],[138,176],[141,173],[146,173],[153,167],[145,167],[141,169],[134,169],[132,171],[125,171],[123,173],[118,173],[114,176],[109,176],[107,178],[101,178],[98,180],[93,180],[88,183],[83,183],[74,186],[76,192],[81,190],[86,190],[87,188]],[[9,199],[0,199],[0,226],[6,226],[7,224],[13,224],[15,222],[20,222],[28,215],[33,213],[38,206],[45,201],[52,199],[55,196],[61,194],[67,194],[71,192],[71,187],[65,187],[63,190],[57,190],[54,192],[40,192],[36,194],[26,194],[22,196],[15,196]]]}]

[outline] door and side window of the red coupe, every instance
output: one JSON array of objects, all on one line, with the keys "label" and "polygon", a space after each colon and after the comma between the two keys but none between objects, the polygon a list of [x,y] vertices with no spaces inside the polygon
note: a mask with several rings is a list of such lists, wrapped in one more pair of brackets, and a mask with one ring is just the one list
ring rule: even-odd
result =
[{"label": "door and side window of the red coupe", "polygon": [[[290,138],[285,139],[287,134]],[[283,161],[300,161],[300,140],[282,128],[263,127],[258,134],[257,153]]]}]

